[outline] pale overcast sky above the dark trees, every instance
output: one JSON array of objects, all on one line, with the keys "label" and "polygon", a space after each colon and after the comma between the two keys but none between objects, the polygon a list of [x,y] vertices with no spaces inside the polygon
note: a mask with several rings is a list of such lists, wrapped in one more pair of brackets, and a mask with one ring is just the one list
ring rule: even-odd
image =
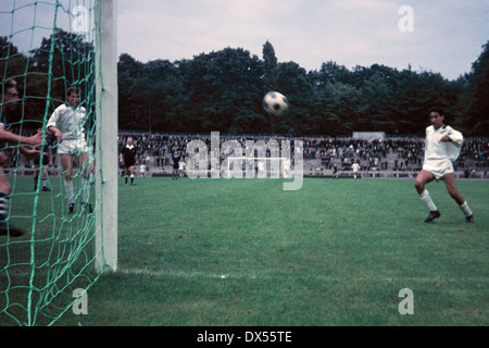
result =
[{"label": "pale overcast sky above the dark trees", "polygon": [[[68,13],[91,1],[60,3]],[[52,25],[54,7],[43,3],[54,0],[27,5],[33,2],[1,0],[0,35],[15,33],[14,44],[35,47]],[[13,4],[16,18],[10,21]],[[70,27],[64,17],[59,15],[59,25]],[[36,37],[21,29],[33,27],[34,18]],[[141,62],[192,59],[227,47],[262,58],[267,40],[278,62],[306,71],[334,61],[349,70],[411,66],[455,79],[471,72],[489,40],[489,0],[117,0],[118,53]]]}]

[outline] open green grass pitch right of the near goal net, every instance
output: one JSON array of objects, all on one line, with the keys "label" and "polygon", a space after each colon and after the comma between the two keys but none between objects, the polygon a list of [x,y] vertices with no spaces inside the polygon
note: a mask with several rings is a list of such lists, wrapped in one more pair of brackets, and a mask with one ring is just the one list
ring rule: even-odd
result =
[{"label": "open green grass pitch right of the near goal net", "polygon": [[[138,178],[120,182],[118,272],[57,325],[488,325],[489,183]],[[398,296],[414,293],[414,314]]]}]

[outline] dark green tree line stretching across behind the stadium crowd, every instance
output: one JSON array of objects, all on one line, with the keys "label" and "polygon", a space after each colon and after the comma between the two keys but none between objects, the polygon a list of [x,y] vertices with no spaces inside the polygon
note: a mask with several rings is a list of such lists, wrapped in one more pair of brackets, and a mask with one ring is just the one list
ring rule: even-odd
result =
[{"label": "dark green tree line stretching across behind the stadium crowd", "polygon": [[[64,100],[67,85],[82,85],[85,98],[95,98],[93,59],[91,44],[61,29],[28,55],[0,37],[3,80],[15,77],[23,82],[23,113],[36,120]],[[142,63],[123,53],[117,67],[121,129],[423,136],[429,108],[437,105],[446,111],[447,123],[467,136],[489,136],[489,41],[471,72],[454,80],[411,66],[347,69],[334,61],[306,71],[296,62],[279,62],[269,41],[263,45],[261,58],[230,47],[174,62]],[[287,115],[265,113],[262,98],[269,90],[287,96]],[[53,96],[49,103],[48,95]]]}]

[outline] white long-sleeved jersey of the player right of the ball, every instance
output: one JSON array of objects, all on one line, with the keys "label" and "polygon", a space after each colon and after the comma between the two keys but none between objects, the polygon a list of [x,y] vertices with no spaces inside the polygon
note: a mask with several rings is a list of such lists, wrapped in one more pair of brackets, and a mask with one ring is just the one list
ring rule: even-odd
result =
[{"label": "white long-sleeved jersey of the player right of the ball", "polygon": [[[441,138],[448,136],[451,141],[442,142]],[[455,161],[462,149],[464,137],[462,133],[450,126],[435,129],[434,126],[426,128],[425,162],[449,159]]]}]

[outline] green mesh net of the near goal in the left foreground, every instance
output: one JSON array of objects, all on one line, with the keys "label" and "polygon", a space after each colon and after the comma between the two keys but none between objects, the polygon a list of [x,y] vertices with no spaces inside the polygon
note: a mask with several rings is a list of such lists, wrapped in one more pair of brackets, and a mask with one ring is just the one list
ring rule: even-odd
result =
[{"label": "green mesh net of the near goal in the left foreground", "polygon": [[[0,201],[0,326],[52,325],[72,311],[106,266],[100,187],[110,175],[103,172],[103,153],[111,147],[96,141],[104,135],[100,104],[105,82],[98,66],[102,3],[112,1],[0,2],[2,123],[12,134],[29,137],[40,129],[43,136],[43,146],[35,148],[0,140],[0,199],[5,197]],[[73,186],[67,189],[60,142],[47,123],[58,107],[67,104],[72,86],[79,88],[79,104],[86,110],[79,126],[88,160],[73,162]],[[15,92],[18,97],[11,98]],[[26,149],[38,150],[38,157]],[[24,232],[21,236],[17,228]]]}]

